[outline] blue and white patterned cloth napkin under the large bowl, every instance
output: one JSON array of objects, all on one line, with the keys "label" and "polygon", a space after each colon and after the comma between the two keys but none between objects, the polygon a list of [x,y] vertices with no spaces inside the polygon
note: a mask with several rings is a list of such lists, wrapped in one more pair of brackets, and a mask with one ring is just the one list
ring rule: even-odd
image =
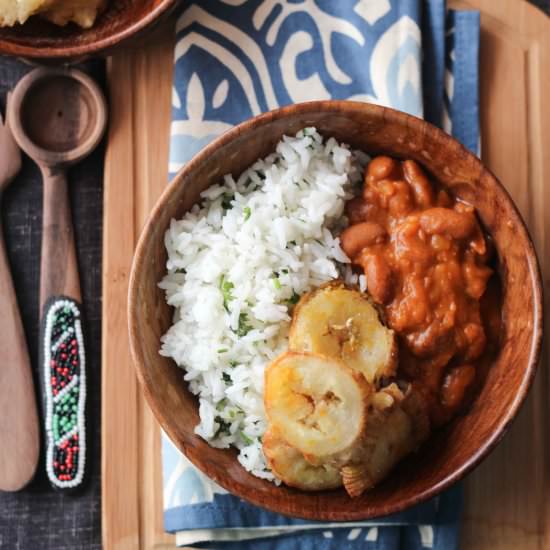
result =
[{"label": "blue and white patterned cloth napkin under the large bowl", "polygon": [[[233,125],[312,99],[370,101],[477,151],[479,14],[445,0],[200,0],[177,23],[169,172]],[[255,550],[458,544],[461,490],[401,514],[321,523],[228,494],[163,436],[164,524],[181,546]]]}]

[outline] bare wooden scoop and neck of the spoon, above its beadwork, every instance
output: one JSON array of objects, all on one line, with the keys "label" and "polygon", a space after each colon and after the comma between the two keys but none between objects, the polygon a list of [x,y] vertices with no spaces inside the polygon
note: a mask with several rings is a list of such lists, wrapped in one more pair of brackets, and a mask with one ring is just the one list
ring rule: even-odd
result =
[{"label": "bare wooden scoop and neck of the spoon, above its beadwork", "polygon": [[40,309],[54,296],[81,301],[67,178],[69,166],[88,156],[107,125],[97,84],[75,69],[40,68],[13,91],[9,122],[19,147],[42,172],[44,183]]}]

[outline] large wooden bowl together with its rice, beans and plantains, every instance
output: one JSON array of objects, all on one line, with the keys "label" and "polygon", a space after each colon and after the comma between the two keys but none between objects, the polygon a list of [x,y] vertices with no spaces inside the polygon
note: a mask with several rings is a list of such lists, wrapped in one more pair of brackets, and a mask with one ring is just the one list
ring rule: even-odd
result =
[{"label": "large wooden bowl together with its rice, beans and plantains", "polygon": [[475,157],[402,113],[314,102],[183,169],[138,245],[129,313],[145,393],[195,464],[272,510],[345,520],[428,498],[492,448],[532,378],[540,307],[525,228]]}]

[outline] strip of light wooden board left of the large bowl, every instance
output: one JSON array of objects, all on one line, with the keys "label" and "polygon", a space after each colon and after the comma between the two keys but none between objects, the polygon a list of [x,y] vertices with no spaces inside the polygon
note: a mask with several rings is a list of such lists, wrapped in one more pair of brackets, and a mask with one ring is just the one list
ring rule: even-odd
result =
[{"label": "strip of light wooden board left of the large bowl", "polygon": [[173,547],[164,533],[160,431],[137,388],[126,297],[134,247],[167,184],[174,31],[108,62],[102,349],[102,524],[106,549]]}]

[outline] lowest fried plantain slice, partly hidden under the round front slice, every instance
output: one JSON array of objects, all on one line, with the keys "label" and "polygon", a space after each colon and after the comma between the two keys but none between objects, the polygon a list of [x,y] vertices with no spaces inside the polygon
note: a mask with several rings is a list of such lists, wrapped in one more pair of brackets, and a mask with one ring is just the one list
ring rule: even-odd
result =
[{"label": "lowest fried plantain slice, partly hidden under the round front slice", "polygon": [[313,466],[273,426],[265,432],[262,443],[268,466],[287,485],[304,491],[321,491],[342,486],[342,476],[338,468],[330,465]]}]

